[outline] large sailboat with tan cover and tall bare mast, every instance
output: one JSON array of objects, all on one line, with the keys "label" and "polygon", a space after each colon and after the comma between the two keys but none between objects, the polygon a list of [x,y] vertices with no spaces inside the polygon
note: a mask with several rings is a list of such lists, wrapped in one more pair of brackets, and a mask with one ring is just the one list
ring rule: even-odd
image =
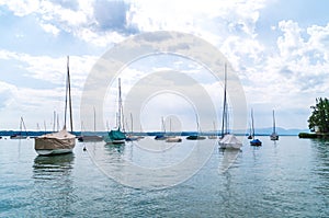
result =
[{"label": "large sailboat with tan cover and tall bare mast", "polygon": [[69,57],[67,57],[67,80],[66,80],[66,99],[65,99],[65,122],[60,131],[46,134],[36,137],[34,149],[39,156],[52,156],[60,153],[72,152],[76,146],[76,136],[68,133],[66,129],[66,116],[69,103],[70,113],[70,127],[73,131],[72,125],[72,102],[71,102],[71,88],[70,88],[70,73],[69,73]]}]

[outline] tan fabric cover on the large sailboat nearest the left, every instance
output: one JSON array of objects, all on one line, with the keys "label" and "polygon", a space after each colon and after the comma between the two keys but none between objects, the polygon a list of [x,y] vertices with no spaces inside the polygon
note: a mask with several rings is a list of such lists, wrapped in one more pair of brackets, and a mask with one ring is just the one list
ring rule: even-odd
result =
[{"label": "tan fabric cover on the large sailboat nearest the left", "polygon": [[73,149],[76,136],[65,128],[57,133],[46,134],[35,138],[35,150]]}]

